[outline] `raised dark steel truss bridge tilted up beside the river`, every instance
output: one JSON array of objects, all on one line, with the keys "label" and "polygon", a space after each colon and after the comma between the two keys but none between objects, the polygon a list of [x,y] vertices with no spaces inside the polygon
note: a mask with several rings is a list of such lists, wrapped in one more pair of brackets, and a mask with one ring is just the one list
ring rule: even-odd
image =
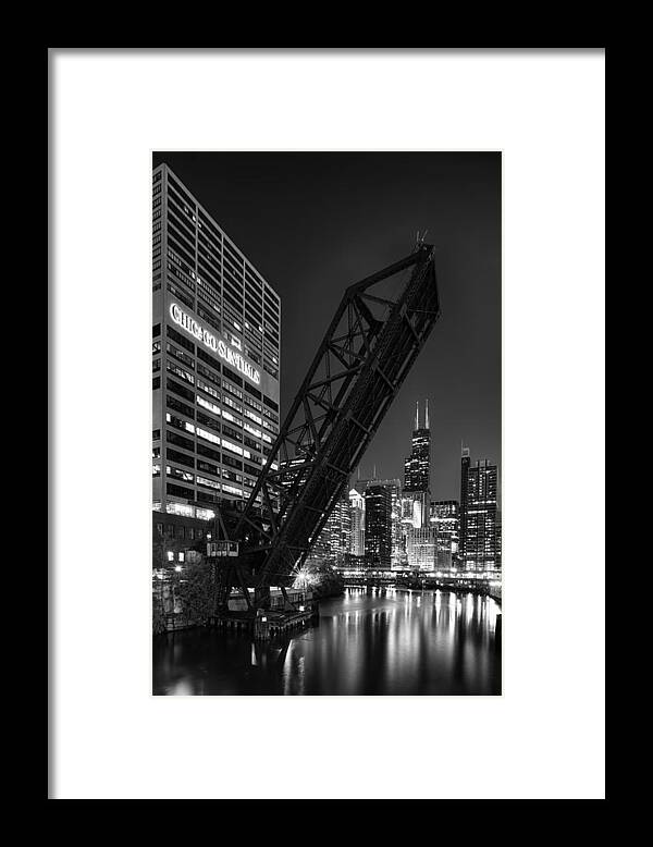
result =
[{"label": "raised dark steel truss bridge tilted up beside the river", "polygon": [[304,564],[440,316],[433,253],[419,244],[346,289],[230,530],[239,553],[218,570],[219,609],[232,587],[264,609]]}]

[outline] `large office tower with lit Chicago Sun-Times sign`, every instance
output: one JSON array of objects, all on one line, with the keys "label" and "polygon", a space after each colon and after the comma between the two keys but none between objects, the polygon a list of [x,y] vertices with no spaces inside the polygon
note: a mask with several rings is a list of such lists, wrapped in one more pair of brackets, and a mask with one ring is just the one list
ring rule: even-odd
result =
[{"label": "large office tower with lit Chicago Sun-Times sign", "polygon": [[152,515],[196,541],[279,432],[281,300],[167,164],[152,172]]}]

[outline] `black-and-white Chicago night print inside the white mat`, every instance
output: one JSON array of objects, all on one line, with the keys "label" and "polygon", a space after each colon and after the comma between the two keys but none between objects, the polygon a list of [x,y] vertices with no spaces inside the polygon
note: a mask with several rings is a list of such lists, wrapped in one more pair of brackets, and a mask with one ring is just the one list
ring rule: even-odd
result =
[{"label": "black-and-white Chicago night print inside the white mat", "polygon": [[153,693],[501,695],[501,154],[152,165]]}]

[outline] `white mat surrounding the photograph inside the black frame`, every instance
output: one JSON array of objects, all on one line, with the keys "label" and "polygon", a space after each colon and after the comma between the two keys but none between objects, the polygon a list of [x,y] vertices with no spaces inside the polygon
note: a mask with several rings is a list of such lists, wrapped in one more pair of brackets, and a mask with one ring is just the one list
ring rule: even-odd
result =
[{"label": "white mat surrounding the photograph inside the black frame", "polygon": [[[51,51],[51,797],[604,796],[604,67]],[[503,697],[150,696],[152,149],[503,151]]]}]

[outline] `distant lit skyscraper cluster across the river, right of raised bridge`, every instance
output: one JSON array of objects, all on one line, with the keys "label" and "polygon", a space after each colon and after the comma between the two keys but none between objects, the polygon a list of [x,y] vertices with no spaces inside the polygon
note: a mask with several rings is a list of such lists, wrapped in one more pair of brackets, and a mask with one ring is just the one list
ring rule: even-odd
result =
[{"label": "distant lit skyscraper cluster across the river, right of raised bridge", "polygon": [[[460,451],[456,498],[431,496],[428,402],[416,402],[411,452],[404,482],[374,472],[352,475],[315,541],[308,561],[329,563],[345,574],[366,570],[455,575],[501,579],[502,516],[498,466]],[[372,510],[372,511],[370,511]]]}]

